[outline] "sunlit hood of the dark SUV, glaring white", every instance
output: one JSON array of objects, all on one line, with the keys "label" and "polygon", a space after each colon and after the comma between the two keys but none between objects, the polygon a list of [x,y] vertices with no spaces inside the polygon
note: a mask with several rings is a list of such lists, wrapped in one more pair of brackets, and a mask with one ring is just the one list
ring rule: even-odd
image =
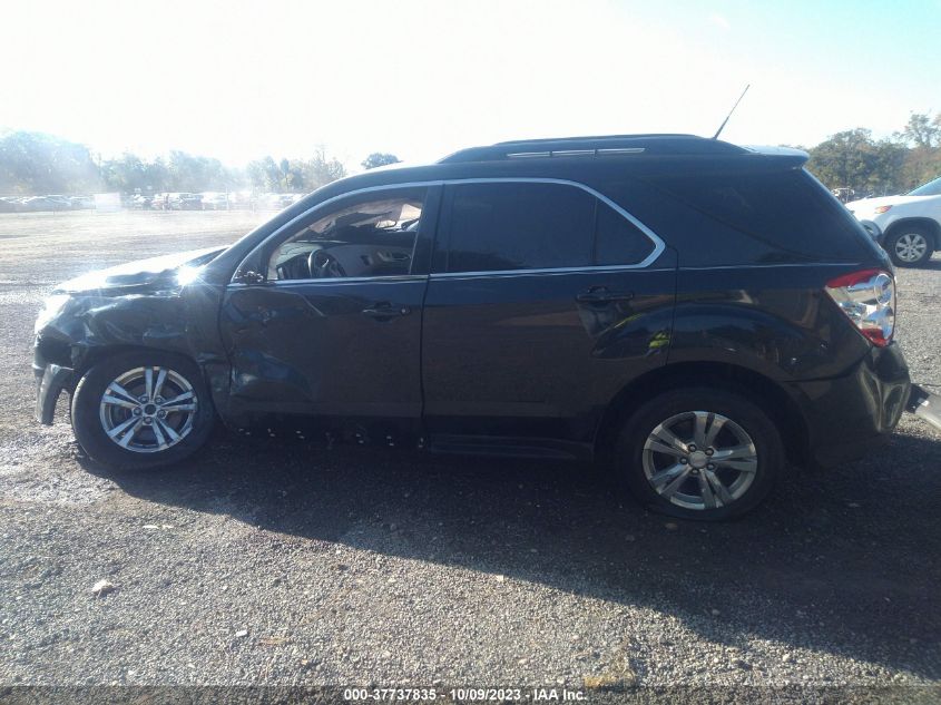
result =
[{"label": "sunlit hood of the dark SUV, glaring white", "polygon": [[206,247],[127,262],[63,282],[52,293],[109,290],[109,293],[131,294],[178,290],[195,278],[199,267],[225,249],[227,246]]}]

